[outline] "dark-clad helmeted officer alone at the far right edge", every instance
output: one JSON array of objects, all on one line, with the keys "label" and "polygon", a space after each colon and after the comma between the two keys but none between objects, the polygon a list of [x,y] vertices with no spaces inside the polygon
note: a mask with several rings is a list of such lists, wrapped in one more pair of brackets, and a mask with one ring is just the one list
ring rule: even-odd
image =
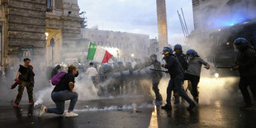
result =
[{"label": "dark-clad helmeted officer alone at the far right edge", "polygon": [[245,106],[241,109],[253,107],[253,103],[249,96],[247,87],[250,86],[251,92],[256,94],[256,54],[254,48],[249,45],[248,40],[238,38],[234,42],[235,50],[239,50],[239,55],[236,60],[234,70],[239,71],[239,89],[243,94]]}]

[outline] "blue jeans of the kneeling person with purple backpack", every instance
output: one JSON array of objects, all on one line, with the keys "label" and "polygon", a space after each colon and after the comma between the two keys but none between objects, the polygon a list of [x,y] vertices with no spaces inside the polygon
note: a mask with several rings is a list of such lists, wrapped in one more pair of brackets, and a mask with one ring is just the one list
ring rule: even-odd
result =
[{"label": "blue jeans of the kneeling person with purple backpack", "polygon": [[69,111],[73,108],[78,101],[78,93],[63,90],[59,92],[51,92],[51,99],[55,102],[56,108],[47,108],[47,113],[63,114],[65,101],[70,100]]}]

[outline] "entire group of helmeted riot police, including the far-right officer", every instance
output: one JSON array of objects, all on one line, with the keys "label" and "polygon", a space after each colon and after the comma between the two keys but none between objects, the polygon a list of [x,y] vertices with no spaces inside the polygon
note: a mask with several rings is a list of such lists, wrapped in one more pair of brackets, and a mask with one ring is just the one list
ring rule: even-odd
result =
[{"label": "entire group of helmeted riot police, including the far-right officer", "polygon": [[[234,42],[235,50],[239,51],[236,63],[232,66],[232,70],[238,70],[240,75],[239,89],[244,97],[245,106],[240,108],[254,107],[250,98],[247,87],[250,87],[251,92],[256,96],[256,55],[255,50],[249,41],[244,38],[238,38]],[[174,50],[174,51],[173,51]],[[98,83],[104,83],[109,78],[111,83],[101,88],[102,92],[112,92],[115,94],[123,94],[127,88],[140,89],[139,81],[141,79],[150,79],[152,88],[155,93],[155,103],[162,104],[162,96],[159,92],[159,82],[163,78],[163,72],[169,73],[170,81],[167,88],[167,104],[162,107],[163,109],[171,110],[171,97],[172,92],[175,97],[174,103],[179,103],[179,97],[187,101],[190,106],[187,110],[192,110],[197,107],[199,102],[199,94],[197,90],[198,83],[200,82],[201,66],[204,65],[205,69],[210,69],[210,64],[197,54],[196,50],[187,50],[186,54],[183,53],[182,45],[174,45],[171,47],[164,47],[162,54],[164,55],[165,64],[158,60],[157,54],[150,55],[144,61],[135,60],[134,68],[130,62],[119,61],[117,64],[103,64],[99,69]],[[147,69],[150,67],[151,69]],[[167,70],[162,70],[162,69]],[[166,76],[166,75],[165,75]],[[193,100],[187,96],[187,89],[184,90],[183,83],[187,80],[189,91],[192,94]]]}]

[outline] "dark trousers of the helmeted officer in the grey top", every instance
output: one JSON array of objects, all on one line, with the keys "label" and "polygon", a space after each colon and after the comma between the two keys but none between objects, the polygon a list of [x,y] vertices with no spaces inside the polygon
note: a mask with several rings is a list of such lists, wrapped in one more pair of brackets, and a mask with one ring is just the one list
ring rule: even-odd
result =
[{"label": "dark trousers of the helmeted officer in the grey top", "polygon": [[189,74],[189,73],[185,73],[184,80],[189,80],[191,82],[191,84],[192,84],[191,94],[194,98],[198,98],[197,85],[200,81],[200,77],[198,77],[196,75]]}]

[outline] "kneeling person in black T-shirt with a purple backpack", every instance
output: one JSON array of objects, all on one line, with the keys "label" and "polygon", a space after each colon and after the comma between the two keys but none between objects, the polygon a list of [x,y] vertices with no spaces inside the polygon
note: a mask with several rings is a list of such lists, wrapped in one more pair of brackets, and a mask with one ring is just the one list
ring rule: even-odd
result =
[{"label": "kneeling person in black T-shirt with a purple backpack", "polygon": [[[61,72],[63,73],[63,72]],[[58,76],[58,74],[56,75]],[[70,65],[68,69],[68,73],[65,73],[61,78],[59,83],[55,86],[53,92],[51,93],[51,98],[55,102],[55,108],[46,108],[45,106],[41,106],[39,117],[46,113],[55,113],[55,114],[63,114],[64,113],[64,104],[65,101],[70,100],[69,111],[65,116],[67,117],[75,117],[78,114],[73,112],[73,108],[78,101],[78,92],[74,90],[74,78],[78,76],[78,68]],[[55,77],[52,78],[55,80]],[[54,84],[54,83],[53,83]]]}]

